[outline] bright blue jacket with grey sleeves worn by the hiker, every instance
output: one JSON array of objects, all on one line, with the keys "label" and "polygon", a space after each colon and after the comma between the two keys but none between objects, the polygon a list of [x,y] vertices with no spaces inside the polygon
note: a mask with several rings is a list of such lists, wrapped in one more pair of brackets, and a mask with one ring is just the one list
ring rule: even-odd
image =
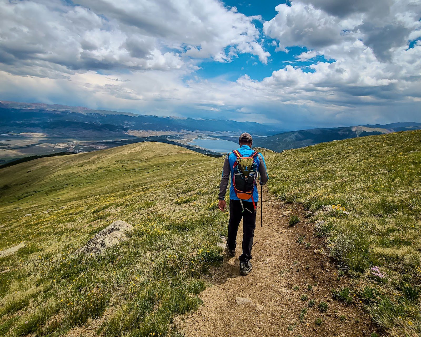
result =
[{"label": "bright blue jacket with grey sleeves worn by the hiker", "polygon": [[[239,149],[237,149],[238,152],[240,152],[241,155],[245,157],[251,157],[254,153],[252,149],[248,145],[242,145]],[[237,198],[237,195],[235,195],[234,191],[234,184],[232,183],[232,177],[234,177],[234,163],[235,160],[237,160],[237,156],[234,154],[234,152],[229,152],[225,156],[224,160],[224,168],[222,169],[222,179],[221,179],[221,185],[219,185],[219,200],[224,200],[225,194],[226,194],[226,187],[228,187],[228,181],[229,181],[229,174],[231,174],[231,187],[229,189],[229,198],[231,200],[239,200]],[[266,169],[266,163],[264,162],[264,158],[259,152],[256,156],[254,162],[256,163],[258,167],[258,172],[260,173],[260,182],[262,185],[266,184],[267,180],[269,179],[267,175],[267,169]],[[259,194],[257,190],[257,186],[254,187],[253,190],[253,200],[257,203],[259,200]],[[251,200],[247,200],[250,201]]]}]

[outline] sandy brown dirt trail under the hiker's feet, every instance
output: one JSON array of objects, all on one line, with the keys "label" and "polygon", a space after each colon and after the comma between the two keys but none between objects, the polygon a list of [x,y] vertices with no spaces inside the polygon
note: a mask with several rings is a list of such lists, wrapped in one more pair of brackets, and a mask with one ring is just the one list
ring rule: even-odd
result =
[{"label": "sandy brown dirt trail under the hiker's feet", "polygon": [[[204,305],[177,319],[180,332],[186,337],[370,336],[376,329],[360,308],[331,298],[331,290],[346,286],[346,278],[339,278],[328,256],[317,252],[324,243],[313,235],[302,206],[268,201],[268,196],[264,193],[263,228],[260,211],[256,220],[253,270],[248,276],[239,274],[239,230],[236,256],[224,255],[222,266],[207,278],[213,286],[200,295]],[[285,211],[290,214],[282,216]],[[289,227],[292,214],[298,215],[301,222]],[[306,248],[308,242],[311,246]],[[238,305],[237,297],[251,303]],[[312,299],[315,304],[309,308]],[[324,313],[318,308],[320,301],[328,304]],[[300,319],[303,308],[307,308],[307,313]],[[315,324],[317,318],[322,319],[322,324]]]}]

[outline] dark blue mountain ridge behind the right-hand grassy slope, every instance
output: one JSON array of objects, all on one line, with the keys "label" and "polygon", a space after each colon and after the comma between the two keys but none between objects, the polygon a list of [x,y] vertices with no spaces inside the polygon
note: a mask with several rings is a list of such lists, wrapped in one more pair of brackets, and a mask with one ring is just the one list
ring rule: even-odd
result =
[{"label": "dark blue mountain ridge behind the right-hand grassy slope", "polygon": [[335,140],[371,136],[376,134],[390,134],[398,131],[421,129],[421,123],[405,122],[391,124],[375,124],[362,126],[347,126],[340,128],[315,128],[282,132],[273,136],[258,137],[253,145],[265,147],[270,150],[281,152],[283,150],[306,147]]}]

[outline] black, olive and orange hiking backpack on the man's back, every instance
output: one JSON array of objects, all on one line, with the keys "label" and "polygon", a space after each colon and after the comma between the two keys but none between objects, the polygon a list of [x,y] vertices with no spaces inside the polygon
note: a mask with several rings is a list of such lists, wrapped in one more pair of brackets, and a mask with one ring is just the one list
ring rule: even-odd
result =
[{"label": "black, olive and orange hiking backpack on the man's back", "polygon": [[256,211],[256,204],[253,200],[253,190],[257,185],[257,164],[255,163],[255,159],[259,152],[254,152],[251,157],[243,157],[237,150],[233,150],[232,152],[237,157],[233,166],[234,179],[232,179],[235,195],[240,199],[242,211],[245,210],[242,200],[249,201],[250,199],[253,202],[253,207]]}]

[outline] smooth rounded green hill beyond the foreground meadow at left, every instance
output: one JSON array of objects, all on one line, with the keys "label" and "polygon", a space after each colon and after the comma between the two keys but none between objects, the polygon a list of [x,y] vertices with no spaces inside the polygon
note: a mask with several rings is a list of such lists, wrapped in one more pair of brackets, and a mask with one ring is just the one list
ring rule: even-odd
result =
[{"label": "smooth rounded green hill beyond the foreground meadow at left", "polygon": [[189,171],[186,166],[211,160],[183,147],[157,142],[40,158],[1,171],[0,205],[20,201],[20,207],[30,207],[31,203],[42,205],[110,193],[125,185],[185,176]]}]

